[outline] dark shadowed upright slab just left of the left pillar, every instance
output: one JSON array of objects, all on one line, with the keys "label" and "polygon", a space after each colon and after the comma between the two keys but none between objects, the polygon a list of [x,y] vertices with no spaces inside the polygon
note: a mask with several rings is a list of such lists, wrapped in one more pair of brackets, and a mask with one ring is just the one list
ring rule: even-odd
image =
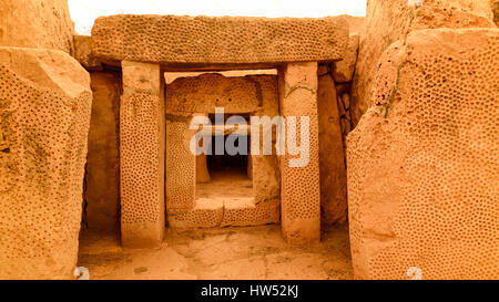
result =
[{"label": "dark shadowed upright slab just left of the left pillar", "polygon": [[92,72],[90,77],[93,102],[86,159],[85,222],[93,230],[118,230],[122,76],[119,72]]}]

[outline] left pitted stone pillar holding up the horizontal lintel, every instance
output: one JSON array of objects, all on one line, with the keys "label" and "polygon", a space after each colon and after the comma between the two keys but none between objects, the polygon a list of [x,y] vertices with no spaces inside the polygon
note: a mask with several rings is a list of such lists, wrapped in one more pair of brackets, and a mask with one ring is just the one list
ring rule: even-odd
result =
[{"label": "left pitted stone pillar holding up the horizontal lintel", "polygon": [[163,241],[164,83],[157,64],[122,62],[120,107],[121,235],[130,248]]}]

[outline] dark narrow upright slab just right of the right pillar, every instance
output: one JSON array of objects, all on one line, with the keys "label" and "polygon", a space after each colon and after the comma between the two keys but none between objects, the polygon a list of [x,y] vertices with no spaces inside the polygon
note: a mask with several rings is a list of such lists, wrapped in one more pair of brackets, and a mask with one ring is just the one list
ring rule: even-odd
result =
[{"label": "dark narrow upright slab just right of the right pillar", "polygon": [[329,72],[319,72],[317,107],[322,221],[344,222],[347,217],[345,149],[335,83]]}]

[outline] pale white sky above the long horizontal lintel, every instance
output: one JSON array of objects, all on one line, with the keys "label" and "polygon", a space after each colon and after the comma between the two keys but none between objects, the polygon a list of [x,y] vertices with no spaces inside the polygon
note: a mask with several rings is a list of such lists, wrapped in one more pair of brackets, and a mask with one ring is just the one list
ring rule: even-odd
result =
[{"label": "pale white sky above the long horizontal lintel", "polygon": [[364,17],[367,0],[69,0],[79,34],[90,34],[100,15],[180,14],[247,17]]}]

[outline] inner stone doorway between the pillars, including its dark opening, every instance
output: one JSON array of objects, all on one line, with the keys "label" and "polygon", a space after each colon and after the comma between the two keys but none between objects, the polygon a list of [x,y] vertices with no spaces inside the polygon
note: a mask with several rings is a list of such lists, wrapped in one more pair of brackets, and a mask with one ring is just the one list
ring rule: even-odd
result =
[{"label": "inner stone doorway between the pillars, including its dark opening", "polygon": [[[251,116],[279,114],[276,71],[224,74],[183,74],[172,80],[166,73],[170,227],[258,226],[281,221],[277,156],[249,154]],[[221,108],[222,114],[217,112]],[[195,156],[190,149],[190,140],[196,135],[191,124],[200,116],[208,124],[202,125],[200,140],[207,149]],[[228,150],[228,145],[236,149]]]}]

